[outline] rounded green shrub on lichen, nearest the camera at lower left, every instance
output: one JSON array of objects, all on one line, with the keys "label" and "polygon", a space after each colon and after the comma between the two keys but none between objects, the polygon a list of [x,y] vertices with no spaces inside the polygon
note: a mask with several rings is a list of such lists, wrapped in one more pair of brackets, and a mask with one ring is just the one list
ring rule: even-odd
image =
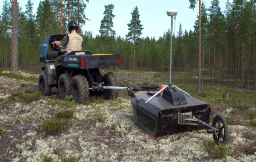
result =
[{"label": "rounded green shrub on lichen, nearest the camera at lower left", "polygon": [[41,128],[48,135],[56,135],[64,130],[64,124],[62,120],[51,120],[44,122]]}]

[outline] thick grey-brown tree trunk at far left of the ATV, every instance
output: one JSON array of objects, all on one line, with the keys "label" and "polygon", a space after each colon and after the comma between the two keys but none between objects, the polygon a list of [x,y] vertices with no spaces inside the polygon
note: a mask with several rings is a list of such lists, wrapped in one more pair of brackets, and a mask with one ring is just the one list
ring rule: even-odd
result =
[{"label": "thick grey-brown tree trunk at far left of the ATV", "polygon": [[11,73],[18,74],[18,2],[12,0],[12,58]]}]

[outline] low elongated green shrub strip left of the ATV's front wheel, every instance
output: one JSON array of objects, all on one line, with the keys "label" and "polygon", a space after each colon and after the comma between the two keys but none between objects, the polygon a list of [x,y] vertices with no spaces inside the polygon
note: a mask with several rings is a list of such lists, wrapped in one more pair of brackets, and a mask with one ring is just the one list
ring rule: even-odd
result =
[{"label": "low elongated green shrub strip left of the ATV's front wheel", "polygon": [[33,94],[23,94],[22,92],[12,93],[8,99],[15,99],[16,97],[18,99],[22,99],[25,102],[31,102],[31,101],[37,101],[40,99],[42,93],[36,92]]}]

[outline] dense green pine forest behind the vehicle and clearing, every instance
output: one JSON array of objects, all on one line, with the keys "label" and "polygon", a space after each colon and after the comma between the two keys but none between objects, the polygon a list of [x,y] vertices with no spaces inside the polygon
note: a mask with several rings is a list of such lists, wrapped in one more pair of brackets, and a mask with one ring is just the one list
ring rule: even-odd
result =
[{"label": "dense green pine forest behind the vehicle and clearing", "polygon": [[[28,0],[25,11],[19,8],[19,69],[39,72],[42,65],[39,62],[39,44],[52,33],[67,32],[66,24],[70,19],[78,21],[79,26],[85,25],[88,20],[85,14],[87,3],[88,0],[42,0],[37,6],[36,15],[32,12],[31,0]],[[189,7],[189,1],[187,6]],[[11,66],[11,8],[11,1],[3,0],[0,15],[0,67],[5,69]],[[105,9],[113,11],[114,5],[106,5]],[[112,15],[113,19],[114,16]],[[219,7],[219,0],[212,0],[210,8],[202,3],[202,83],[208,80],[213,86],[222,84],[256,89],[255,28],[255,0],[233,0],[231,3],[227,0],[223,12]],[[139,37],[136,46],[132,39],[118,36],[115,31],[92,36],[90,31],[79,30],[79,34],[83,36],[85,50],[95,53],[119,52],[122,64],[120,69],[133,69],[135,48],[135,70],[169,71],[169,30],[158,40]],[[172,66],[174,71],[194,73],[196,76],[198,20],[194,30],[185,30],[183,33],[180,24],[178,32],[173,32]]]}]

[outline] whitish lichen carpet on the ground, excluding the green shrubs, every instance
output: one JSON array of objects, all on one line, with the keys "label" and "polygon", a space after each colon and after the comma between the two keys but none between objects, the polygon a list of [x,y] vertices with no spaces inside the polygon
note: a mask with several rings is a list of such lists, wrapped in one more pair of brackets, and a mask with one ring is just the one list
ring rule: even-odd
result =
[{"label": "whitish lichen carpet on the ground, excluding the green shrubs", "polygon": [[[15,89],[13,83],[19,82],[11,78],[0,78],[0,86],[6,90]],[[29,82],[27,82],[30,84]],[[31,83],[32,84],[32,83]],[[16,87],[17,88],[17,87]],[[8,93],[8,91],[7,91]],[[10,95],[10,94],[5,94]],[[0,96],[3,97],[3,96]],[[113,109],[109,101],[103,104],[77,105],[75,119],[71,120],[72,126],[56,136],[45,135],[38,130],[38,126],[54,118],[55,113],[62,108],[52,104],[58,99],[43,98],[31,103],[8,103],[5,109],[0,109],[0,123],[19,120],[21,128],[29,129],[20,134],[21,139],[10,135],[15,149],[10,148],[8,157],[13,162],[40,162],[44,156],[54,158],[56,162],[61,157],[75,156],[79,162],[111,161],[111,162],[148,162],[148,161],[255,161],[254,155],[240,154],[233,158],[211,159],[204,151],[203,140],[212,139],[205,130],[177,133],[150,138],[143,133],[133,120],[133,112],[129,97],[117,99],[118,106]],[[2,103],[0,103],[2,104]],[[95,115],[103,114],[104,122],[97,122]],[[256,133],[254,128],[246,126],[229,126],[230,147],[234,149],[239,144],[246,142],[242,137],[243,132]],[[12,132],[9,132],[12,134]],[[0,143],[1,143],[0,136]],[[255,147],[255,146],[254,146]],[[3,149],[3,148],[0,148]],[[18,151],[13,151],[18,150]]]}]

